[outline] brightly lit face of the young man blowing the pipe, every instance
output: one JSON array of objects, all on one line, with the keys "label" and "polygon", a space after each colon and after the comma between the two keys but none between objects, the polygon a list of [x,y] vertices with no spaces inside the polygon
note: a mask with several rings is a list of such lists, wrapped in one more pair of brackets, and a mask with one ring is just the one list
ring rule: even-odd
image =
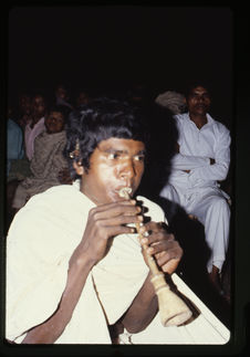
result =
[{"label": "brightly lit face of the young man blowing the pipe", "polygon": [[81,190],[96,204],[121,200],[118,191],[123,187],[131,187],[133,196],[144,174],[144,143],[103,140],[91,156],[88,171],[83,169]]}]

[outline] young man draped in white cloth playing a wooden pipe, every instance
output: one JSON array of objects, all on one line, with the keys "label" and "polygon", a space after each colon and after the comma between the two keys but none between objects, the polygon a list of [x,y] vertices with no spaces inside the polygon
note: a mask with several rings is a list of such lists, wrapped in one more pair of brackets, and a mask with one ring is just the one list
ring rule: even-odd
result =
[{"label": "young man draped in white cloth playing a wooden pipe", "polygon": [[[9,342],[117,343],[112,330],[121,344],[228,340],[226,327],[210,312],[206,316],[198,301],[205,315],[185,326],[159,323],[140,243],[168,277],[183,250],[163,224],[160,207],[135,197],[149,147],[143,119],[126,103],[107,98],[70,116],[65,154],[73,177],[81,180],[31,198],[7,237]],[[121,197],[124,188],[131,189],[131,199]]]}]

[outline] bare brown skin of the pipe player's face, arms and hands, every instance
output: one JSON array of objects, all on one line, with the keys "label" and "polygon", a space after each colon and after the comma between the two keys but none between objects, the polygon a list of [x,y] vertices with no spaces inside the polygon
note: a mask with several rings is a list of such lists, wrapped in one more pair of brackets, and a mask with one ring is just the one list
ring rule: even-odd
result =
[{"label": "bare brown skin of the pipe player's face, arms and hands", "polygon": [[[126,224],[143,221],[136,201],[121,198],[118,190],[131,187],[132,195],[135,193],[144,172],[144,157],[142,141],[110,138],[101,141],[91,155],[88,170],[81,161],[75,162],[75,170],[82,177],[81,191],[96,207],[88,212],[82,241],[70,259],[67,282],[58,311],[46,322],[32,328],[23,344],[53,344],[59,338],[71,319],[90,271],[105,255],[108,240],[117,234],[134,233],[135,228]],[[149,254],[154,254],[164,272],[171,274],[183,255],[178,242],[159,222],[146,223],[140,228],[142,233],[145,231],[150,231],[145,238]],[[150,277],[148,273],[143,287],[119,319],[122,329],[126,327],[131,333],[143,330],[156,315],[157,298]]]}]

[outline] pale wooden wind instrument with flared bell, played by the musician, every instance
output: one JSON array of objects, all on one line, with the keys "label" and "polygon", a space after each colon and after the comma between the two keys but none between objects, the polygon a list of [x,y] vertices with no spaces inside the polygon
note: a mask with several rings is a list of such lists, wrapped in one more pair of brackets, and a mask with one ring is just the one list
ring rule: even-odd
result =
[{"label": "pale wooden wind instrument with flared bell, played by the musician", "polygon": [[[119,190],[119,197],[129,199],[132,189],[124,187]],[[136,224],[137,231],[139,231],[140,223]],[[138,239],[143,238],[143,234],[138,233]],[[176,295],[167,284],[164,273],[159,271],[155,259],[147,253],[147,244],[142,244],[146,255],[146,260],[152,272],[152,284],[155,288],[155,293],[158,297],[158,308],[162,324],[166,326],[179,326],[187,322],[192,313],[186,303]]]}]

